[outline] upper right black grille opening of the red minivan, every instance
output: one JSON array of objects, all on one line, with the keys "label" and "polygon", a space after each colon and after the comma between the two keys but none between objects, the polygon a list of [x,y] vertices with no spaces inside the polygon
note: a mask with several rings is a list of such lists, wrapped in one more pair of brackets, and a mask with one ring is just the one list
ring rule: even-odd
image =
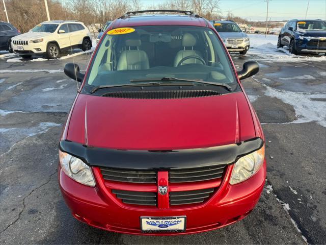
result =
[{"label": "upper right black grille opening of the red minivan", "polygon": [[169,182],[194,182],[222,178],[226,165],[213,167],[191,168],[182,170],[170,170]]}]

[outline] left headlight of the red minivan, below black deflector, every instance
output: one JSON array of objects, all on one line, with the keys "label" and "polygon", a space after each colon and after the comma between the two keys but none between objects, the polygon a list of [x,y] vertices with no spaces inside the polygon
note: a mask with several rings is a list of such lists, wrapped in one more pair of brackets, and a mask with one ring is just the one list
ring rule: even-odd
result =
[{"label": "left headlight of the red minivan, below black deflector", "polygon": [[71,179],[80,184],[95,186],[92,170],[82,160],[59,151],[59,161],[62,169]]}]

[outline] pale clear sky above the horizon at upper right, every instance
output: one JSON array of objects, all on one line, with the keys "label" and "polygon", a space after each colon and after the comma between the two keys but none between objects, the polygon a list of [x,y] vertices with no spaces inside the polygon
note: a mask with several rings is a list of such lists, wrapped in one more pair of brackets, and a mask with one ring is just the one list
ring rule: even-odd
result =
[{"label": "pale clear sky above the horizon at upper right", "polygon": [[[166,0],[141,0],[144,7],[155,2],[163,3]],[[308,0],[269,0],[268,19],[289,20],[304,19]],[[266,20],[267,0],[220,0],[222,15],[230,12],[235,16],[248,20]],[[326,19],[326,0],[310,0],[307,19]]]}]

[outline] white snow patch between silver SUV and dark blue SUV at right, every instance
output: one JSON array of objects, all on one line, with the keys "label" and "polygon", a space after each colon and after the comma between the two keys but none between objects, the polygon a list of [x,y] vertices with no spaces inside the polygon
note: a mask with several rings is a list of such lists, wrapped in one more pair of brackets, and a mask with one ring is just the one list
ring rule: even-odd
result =
[{"label": "white snow patch between silver SUV and dark blue SUV at right", "polygon": [[257,55],[261,58],[255,60],[267,60],[278,62],[305,62],[309,61],[326,61],[325,56],[311,56],[306,54],[293,55],[290,54],[287,47],[277,48],[277,35],[259,35],[250,34],[250,49],[248,54]]}]

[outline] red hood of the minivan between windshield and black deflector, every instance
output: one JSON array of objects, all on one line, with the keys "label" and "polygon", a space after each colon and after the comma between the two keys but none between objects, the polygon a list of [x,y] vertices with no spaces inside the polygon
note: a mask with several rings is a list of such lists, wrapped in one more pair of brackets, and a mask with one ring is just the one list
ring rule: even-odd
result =
[{"label": "red hood of the minivan between windshield and black deflector", "polygon": [[205,148],[256,137],[242,92],[159,100],[79,94],[68,124],[67,140],[120,150]]}]

